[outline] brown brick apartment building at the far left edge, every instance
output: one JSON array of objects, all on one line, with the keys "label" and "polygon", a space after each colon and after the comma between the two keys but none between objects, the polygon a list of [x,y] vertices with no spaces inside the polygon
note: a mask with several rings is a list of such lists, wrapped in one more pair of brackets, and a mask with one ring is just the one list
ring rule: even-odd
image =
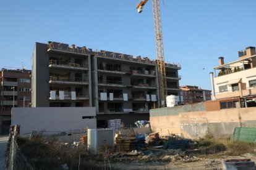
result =
[{"label": "brown brick apartment building at the far left edge", "polygon": [[0,84],[0,134],[9,134],[13,107],[30,107],[31,70],[2,68]]}]

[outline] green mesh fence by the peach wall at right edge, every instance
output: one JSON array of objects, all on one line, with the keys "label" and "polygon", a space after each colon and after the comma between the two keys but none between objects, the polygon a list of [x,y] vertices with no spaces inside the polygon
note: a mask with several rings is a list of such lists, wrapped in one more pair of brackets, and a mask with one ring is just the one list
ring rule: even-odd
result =
[{"label": "green mesh fence by the peach wall at right edge", "polygon": [[232,136],[232,140],[240,142],[256,143],[256,128],[236,127]]}]

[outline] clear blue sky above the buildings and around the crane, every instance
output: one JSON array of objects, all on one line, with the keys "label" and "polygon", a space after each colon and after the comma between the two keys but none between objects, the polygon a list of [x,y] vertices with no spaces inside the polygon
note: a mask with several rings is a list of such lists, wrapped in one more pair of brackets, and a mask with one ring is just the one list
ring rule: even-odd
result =
[{"label": "clear blue sky above the buildings and around the crane", "polygon": [[[151,1],[142,14],[137,2],[2,0],[0,67],[31,69],[35,42],[48,41],[156,59]],[[160,6],[164,57],[181,64],[180,85],[210,89],[218,57],[231,62],[237,51],[256,46],[255,0],[164,0]]]}]

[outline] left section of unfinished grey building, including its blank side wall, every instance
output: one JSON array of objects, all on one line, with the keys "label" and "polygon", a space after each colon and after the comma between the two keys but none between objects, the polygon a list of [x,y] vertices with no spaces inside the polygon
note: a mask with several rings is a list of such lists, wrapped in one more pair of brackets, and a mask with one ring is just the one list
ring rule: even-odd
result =
[{"label": "left section of unfinished grey building, including its blank side wall", "polygon": [[92,107],[87,47],[36,42],[32,57],[32,107]]}]

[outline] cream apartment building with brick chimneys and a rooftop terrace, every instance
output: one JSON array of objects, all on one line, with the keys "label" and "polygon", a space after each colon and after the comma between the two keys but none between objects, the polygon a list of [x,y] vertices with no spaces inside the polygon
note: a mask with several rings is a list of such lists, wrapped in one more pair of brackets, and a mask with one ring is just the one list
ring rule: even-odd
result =
[{"label": "cream apartment building with brick chimneys and a rooftop terrace", "polygon": [[255,47],[247,47],[238,54],[238,60],[229,63],[224,63],[224,57],[219,57],[219,66],[214,68],[213,99],[220,101],[221,109],[255,106]]}]

